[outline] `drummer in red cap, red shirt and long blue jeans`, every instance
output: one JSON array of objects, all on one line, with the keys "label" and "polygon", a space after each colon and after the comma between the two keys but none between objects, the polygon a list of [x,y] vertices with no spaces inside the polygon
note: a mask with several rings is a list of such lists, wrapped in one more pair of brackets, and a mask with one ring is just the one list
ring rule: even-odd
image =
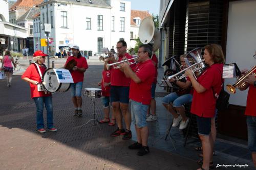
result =
[{"label": "drummer in red cap, red shirt and long blue jeans", "polygon": [[36,127],[37,131],[40,133],[46,132],[43,117],[44,103],[47,112],[48,131],[57,131],[57,129],[53,126],[52,94],[50,92],[46,92],[45,90],[38,90],[40,89],[39,87],[42,83],[41,75],[44,75],[44,72],[46,71],[46,66],[44,64],[46,61],[45,56],[47,55],[42,51],[36,51],[33,54],[33,60],[35,63],[31,64],[22,75],[22,79],[30,83],[31,98],[34,100],[36,105]]}]

